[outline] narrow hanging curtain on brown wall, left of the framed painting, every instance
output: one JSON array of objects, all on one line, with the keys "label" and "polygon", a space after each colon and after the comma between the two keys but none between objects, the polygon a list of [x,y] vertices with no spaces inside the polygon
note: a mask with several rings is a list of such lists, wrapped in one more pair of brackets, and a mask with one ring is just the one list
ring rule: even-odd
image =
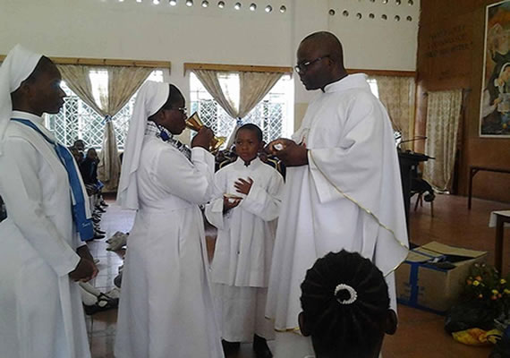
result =
[{"label": "narrow hanging curtain on brown wall, left of the framed painting", "polygon": [[434,188],[451,189],[463,90],[429,92],[425,153],[435,159],[424,163],[423,178]]}]

